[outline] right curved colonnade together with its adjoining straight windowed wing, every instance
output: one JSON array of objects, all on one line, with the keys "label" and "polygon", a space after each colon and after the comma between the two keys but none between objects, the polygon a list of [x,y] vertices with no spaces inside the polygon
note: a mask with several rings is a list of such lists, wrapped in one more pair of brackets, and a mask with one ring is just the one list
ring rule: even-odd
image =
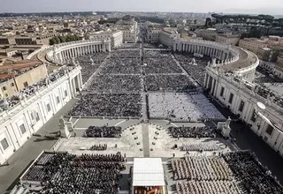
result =
[{"label": "right curved colonnade together with its adjoining straight windowed wing", "polygon": [[[175,39],[172,48],[174,51],[212,57],[212,62],[206,67],[204,89],[242,121],[249,123],[252,131],[283,156],[283,102],[278,96],[264,98],[258,93],[260,86],[253,80],[259,60],[254,53],[203,40]],[[258,101],[266,105],[261,113],[267,119],[257,115]]]}]

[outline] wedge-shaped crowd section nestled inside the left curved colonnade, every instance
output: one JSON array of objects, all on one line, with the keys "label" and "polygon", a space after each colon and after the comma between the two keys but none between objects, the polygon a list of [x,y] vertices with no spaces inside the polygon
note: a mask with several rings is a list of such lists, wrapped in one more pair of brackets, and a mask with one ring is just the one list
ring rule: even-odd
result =
[{"label": "wedge-shaped crowd section nestled inside the left curved colonnade", "polygon": [[88,56],[79,56],[74,62],[81,67],[81,78],[82,82],[86,83],[96,70],[99,68],[101,63],[108,56],[108,53],[95,53]]}]

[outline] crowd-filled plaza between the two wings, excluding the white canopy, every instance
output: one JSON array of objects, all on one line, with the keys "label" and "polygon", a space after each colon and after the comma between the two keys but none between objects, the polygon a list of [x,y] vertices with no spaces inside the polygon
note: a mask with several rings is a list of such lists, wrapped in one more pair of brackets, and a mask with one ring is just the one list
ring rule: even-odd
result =
[{"label": "crowd-filled plaza between the two wings, excluding the white canopy", "polygon": [[[197,59],[198,66],[192,57],[135,45],[69,60],[81,66],[83,87],[43,129],[47,137],[53,134],[50,143],[36,149],[38,157],[26,169],[18,169],[13,190],[149,192],[150,185],[135,185],[134,159],[161,158],[164,189],[151,185],[160,193],[282,193],[254,153],[217,129],[228,115],[199,84],[211,58]],[[62,124],[67,138],[58,137]],[[40,130],[39,137],[46,134]]]}]

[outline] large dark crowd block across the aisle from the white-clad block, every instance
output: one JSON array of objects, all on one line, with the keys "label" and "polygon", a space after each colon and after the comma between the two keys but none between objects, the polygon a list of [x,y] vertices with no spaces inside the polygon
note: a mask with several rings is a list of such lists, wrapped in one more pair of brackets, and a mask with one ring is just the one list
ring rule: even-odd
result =
[{"label": "large dark crowd block across the aisle from the white-clad block", "polygon": [[142,116],[142,96],[139,93],[88,93],[68,112],[69,116]]}]

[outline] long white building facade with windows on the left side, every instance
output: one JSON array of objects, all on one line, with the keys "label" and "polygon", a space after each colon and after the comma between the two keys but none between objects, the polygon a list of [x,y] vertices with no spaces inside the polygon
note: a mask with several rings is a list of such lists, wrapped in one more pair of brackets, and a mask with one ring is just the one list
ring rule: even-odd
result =
[{"label": "long white building facade with windows on the left side", "polygon": [[63,77],[0,113],[0,164],[82,89],[80,69],[65,71]]}]

